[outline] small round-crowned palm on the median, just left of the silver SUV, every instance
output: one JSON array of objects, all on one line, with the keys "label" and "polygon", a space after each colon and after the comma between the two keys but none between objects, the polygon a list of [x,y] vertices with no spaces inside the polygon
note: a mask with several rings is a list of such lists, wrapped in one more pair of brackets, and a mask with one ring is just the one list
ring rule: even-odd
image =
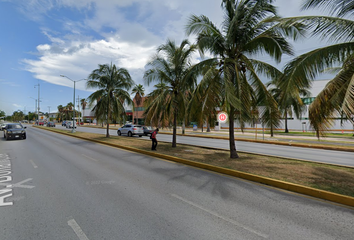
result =
[{"label": "small round-crowned palm on the median, just left of the silver SUV", "polygon": [[98,89],[88,98],[89,105],[95,104],[93,111],[97,119],[107,121],[106,137],[109,137],[109,121],[122,119],[124,104],[132,104],[129,90],[134,84],[128,70],[117,68],[115,64],[99,64],[88,77],[87,88]]}]

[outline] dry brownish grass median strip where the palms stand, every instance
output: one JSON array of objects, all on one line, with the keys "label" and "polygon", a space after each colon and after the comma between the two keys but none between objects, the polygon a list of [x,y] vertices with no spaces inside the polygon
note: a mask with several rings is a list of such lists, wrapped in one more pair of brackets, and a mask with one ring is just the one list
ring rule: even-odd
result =
[{"label": "dry brownish grass median strip where the palms stand", "polygon": [[[71,131],[59,129],[50,130],[147,151],[151,149],[150,141],[138,137],[128,139],[126,136],[111,136],[106,138],[102,134],[71,133]],[[176,148],[172,148],[171,143],[162,142],[159,142],[157,152],[354,197],[354,168],[248,153],[239,153],[238,159],[230,159],[228,151],[186,145],[177,145]]]}]

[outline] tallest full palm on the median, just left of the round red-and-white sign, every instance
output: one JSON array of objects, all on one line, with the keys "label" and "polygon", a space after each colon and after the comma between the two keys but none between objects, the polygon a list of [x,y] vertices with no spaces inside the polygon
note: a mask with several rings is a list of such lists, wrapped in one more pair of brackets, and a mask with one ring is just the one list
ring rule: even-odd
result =
[{"label": "tallest full palm on the median, just left of the round red-and-white sign", "polygon": [[[222,106],[229,115],[230,158],[238,158],[234,141],[234,121],[243,128],[252,119],[257,103],[264,105],[261,117],[269,115],[272,126],[279,122],[277,103],[262,83],[259,74],[277,78],[280,72],[273,66],[252,56],[268,54],[277,62],[283,53],[293,54],[283,35],[302,33],[301,24],[280,25],[273,0],[223,0],[225,12],[220,29],[206,16],[192,15],[187,24],[187,34],[197,34],[201,53],[209,51],[213,58],[197,64],[202,69],[210,66],[203,77],[203,84],[215,79],[214,69],[219,69],[222,79]],[[257,111],[253,111],[257,112]],[[236,118],[236,119],[235,119]],[[266,121],[266,124],[269,122]]]}]

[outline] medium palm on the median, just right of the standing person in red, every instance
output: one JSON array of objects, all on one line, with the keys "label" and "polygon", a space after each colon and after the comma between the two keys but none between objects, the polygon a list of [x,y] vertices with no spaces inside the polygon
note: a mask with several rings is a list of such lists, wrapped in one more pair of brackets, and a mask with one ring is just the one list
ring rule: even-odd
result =
[{"label": "medium palm on the median, just right of the standing person in red", "polygon": [[167,40],[157,48],[157,54],[148,63],[150,69],[144,74],[148,85],[154,81],[165,84],[161,94],[147,107],[147,120],[164,116],[165,121],[172,122],[172,147],[177,145],[177,121],[183,120],[186,113],[185,93],[191,91],[196,84],[196,75],[190,71],[195,50],[196,46],[188,40],[183,40],[180,46]]}]

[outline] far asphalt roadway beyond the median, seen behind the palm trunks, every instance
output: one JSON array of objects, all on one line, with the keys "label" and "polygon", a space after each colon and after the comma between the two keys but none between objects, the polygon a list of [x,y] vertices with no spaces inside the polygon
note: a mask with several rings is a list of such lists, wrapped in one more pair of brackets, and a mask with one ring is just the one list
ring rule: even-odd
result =
[{"label": "far asphalt roadway beyond the median, seen behind the palm trunks", "polygon": [[[63,128],[58,126],[58,128]],[[105,134],[105,129],[78,127],[77,131]],[[116,130],[110,130],[111,135],[117,135]],[[149,140],[148,137],[143,139]],[[158,134],[159,141],[172,142],[172,135]],[[194,146],[214,147],[229,150],[229,141],[221,139],[198,138],[177,136],[177,143],[183,143]],[[354,153],[344,151],[332,151],[312,148],[302,148],[293,146],[283,146],[276,144],[264,144],[245,141],[236,141],[238,151],[266,154],[270,156],[295,158],[300,160],[337,164],[342,166],[354,167]]]}]

